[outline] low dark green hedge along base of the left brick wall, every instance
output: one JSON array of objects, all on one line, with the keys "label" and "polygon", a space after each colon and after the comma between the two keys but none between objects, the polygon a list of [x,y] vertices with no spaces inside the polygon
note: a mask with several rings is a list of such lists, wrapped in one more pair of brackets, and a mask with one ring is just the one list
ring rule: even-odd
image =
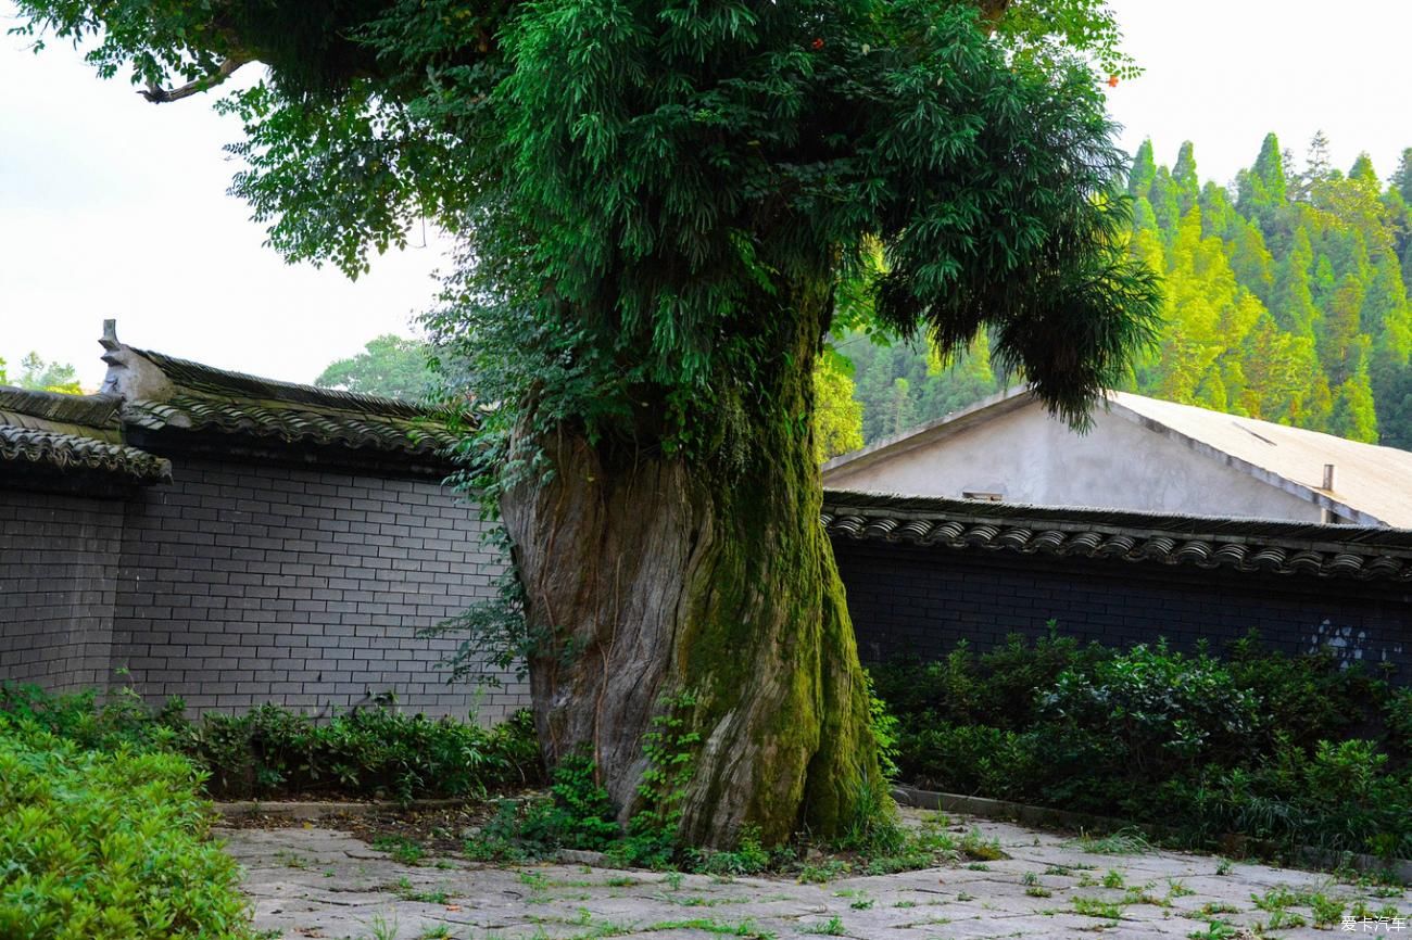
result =
[{"label": "low dark green hedge along base of the left brick wall", "polygon": [[97,707],[92,692],[51,696],[0,685],[0,716],[32,721],[82,747],[162,748],[189,757],[220,797],[339,793],[409,800],[483,795],[534,782],[539,751],[522,711],[494,728],[388,707],[336,714],[328,721],[265,704],[244,714],[209,713],[198,723],[184,704],[150,709],[133,692]]}]

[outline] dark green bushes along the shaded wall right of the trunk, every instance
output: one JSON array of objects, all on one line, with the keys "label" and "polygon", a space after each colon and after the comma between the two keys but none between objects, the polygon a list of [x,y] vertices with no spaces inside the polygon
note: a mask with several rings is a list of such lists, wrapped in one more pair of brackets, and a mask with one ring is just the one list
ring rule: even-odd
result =
[{"label": "dark green bushes along the shaded wall right of the trunk", "polygon": [[1412,699],[1251,638],[1186,655],[1048,637],[874,666],[902,779],[1293,850],[1412,852]]}]

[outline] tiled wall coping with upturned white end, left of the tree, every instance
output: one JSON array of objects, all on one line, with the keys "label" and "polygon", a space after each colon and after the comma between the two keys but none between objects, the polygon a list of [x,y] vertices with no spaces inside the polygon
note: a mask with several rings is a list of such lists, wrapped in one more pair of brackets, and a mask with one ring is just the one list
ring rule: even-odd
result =
[{"label": "tiled wall coping with upturned white end, left of the tree", "polygon": [[240,435],[288,445],[436,456],[457,438],[412,404],[281,382],[133,349],[104,337],[130,428]]}]

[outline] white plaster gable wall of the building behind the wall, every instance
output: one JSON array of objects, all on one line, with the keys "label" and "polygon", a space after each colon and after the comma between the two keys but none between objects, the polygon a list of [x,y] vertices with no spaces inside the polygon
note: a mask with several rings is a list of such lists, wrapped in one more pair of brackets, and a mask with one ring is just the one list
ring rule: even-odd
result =
[{"label": "white plaster gable wall of the building behind the wall", "polygon": [[1193,452],[1161,430],[1097,412],[1077,435],[1038,405],[873,463],[844,464],[825,486],[908,495],[1001,493],[1007,502],[1243,515],[1317,522],[1319,507]]}]

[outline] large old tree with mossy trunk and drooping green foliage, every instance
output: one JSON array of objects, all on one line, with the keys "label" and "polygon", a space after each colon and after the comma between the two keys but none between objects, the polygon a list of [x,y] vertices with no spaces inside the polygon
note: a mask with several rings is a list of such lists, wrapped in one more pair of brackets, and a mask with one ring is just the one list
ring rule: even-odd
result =
[{"label": "large old tree with mossy trunk and drooping green foliage", "polygon": [[158,103],[263,65],[233,191],[289,258],[462,236],[435,323],[498,435],[545,754],[626,813],[689,703],[696,844],[837,831],[878,783],[812,446],[839,312],[988,330],[1082,421],[1155,306],[1072,55],[1114,56],[1100,0],[20,6]]}]

